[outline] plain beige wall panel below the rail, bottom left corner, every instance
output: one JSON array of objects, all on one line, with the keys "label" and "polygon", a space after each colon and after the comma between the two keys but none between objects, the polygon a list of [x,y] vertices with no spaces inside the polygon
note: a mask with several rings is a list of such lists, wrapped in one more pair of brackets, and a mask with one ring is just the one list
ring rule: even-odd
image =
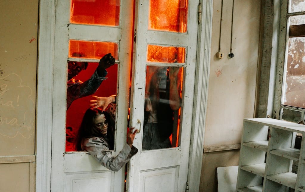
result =
[{"label": "plain beige wall panel below the rail, bottom left corner", "polygon": [[35,183],[33,175],[30,175],[31,172],[35,172],[33,164],[0,164],[0,191],[33,192]]}]

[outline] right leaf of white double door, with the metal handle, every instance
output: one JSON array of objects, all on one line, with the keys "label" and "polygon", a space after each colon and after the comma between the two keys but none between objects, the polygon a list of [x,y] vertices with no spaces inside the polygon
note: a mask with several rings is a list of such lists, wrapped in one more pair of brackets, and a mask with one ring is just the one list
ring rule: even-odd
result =
[{"label": "right leaf of white double door, with the metal handle", "polygon": [[[188,175],[188,161],[191,140],[192,109],[194,98],[194,79],[196,67],[198,4],[199,1],[157,1],[139,0],[136,2],[135,19],[135,65],[133,66],[133,84],[131,95],[131,126],[140,129],[136,135],[134,145],[139,152],[131,159],[127,172],[127,191],[132,192],[169,192],[185,191]],[[186,2],[186,4],[183,4]],[[181,3],[173,9],[173,4]],[[157,4],[157,5],[156,5]],[[170,7],[170,8],[169,8]],[[163,9],[161,15],[154,15],[156,10]],[[182,32],[171,31],[170,26],[158,25],[167,14],[176,10],[187,10],[185,15],[180,14],[180,28]],[[196,11],[195,11],[196,10]],[[163,15],[162,15],[163,14]],[[186,17],[184,20],[181,17]],[[158,23],[159,22],[159,23]],[[154,26],[156,25],[156,26]],[[183,32],[183,29],[186,29]],[[182,61],[175,63],[155,62],[150,59],[150,46],[174,47],[183,49],[178,55]],[[177,66],[183,68],[182,103],[180,109],[180,125],[178,146],[154,150],[144,150],[143,126],[145,106],[145,74],[147,66]],[[146,79],[148,80],[148,79]],[[146,110],[146,108],[145,108]]]}]

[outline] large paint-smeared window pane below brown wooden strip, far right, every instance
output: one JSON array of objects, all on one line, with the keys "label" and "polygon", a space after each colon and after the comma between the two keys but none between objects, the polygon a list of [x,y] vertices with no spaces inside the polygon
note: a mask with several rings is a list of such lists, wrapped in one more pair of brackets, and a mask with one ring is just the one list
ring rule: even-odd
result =
[{"label": "large paint-smeared window pane below brown wooden strip, far right", "polygon": [[305,37],[288,41],[283,105],[305,108]]}]

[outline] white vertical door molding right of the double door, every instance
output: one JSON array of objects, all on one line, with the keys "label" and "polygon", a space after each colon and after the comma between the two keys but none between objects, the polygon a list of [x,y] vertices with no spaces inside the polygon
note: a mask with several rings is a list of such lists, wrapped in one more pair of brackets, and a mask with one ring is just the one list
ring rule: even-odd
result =
[{"label": "white vertical door molding right of the double door", "polygon": [[203,0],[200,2],[202,4],[202,15],[201,22],[199,23],[198,27],[197,66],[191,135],[192,139],[190,161],[188,166],[188,191],[199,191],[203,157],[208,81],[210,73],[213,0]]}]

